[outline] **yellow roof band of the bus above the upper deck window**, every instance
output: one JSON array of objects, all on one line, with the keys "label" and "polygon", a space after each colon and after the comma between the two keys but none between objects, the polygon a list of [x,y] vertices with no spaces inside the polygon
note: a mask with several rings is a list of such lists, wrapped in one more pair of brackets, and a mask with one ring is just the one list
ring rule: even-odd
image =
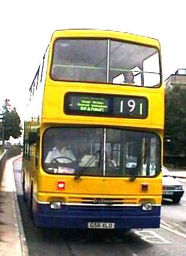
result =
[{"label": "yellow roof band of the bus above the upper deck window", "polygon": [[93,38],[113,38],[121,39],[129,42],[137,42],[138,44],[153,45],[157,48],[160,47],[160,42],[157,39],[147,36],[134,35],[126,32],[111,31],[111,30],[99,30],[99,29],[64,29],[56,30],[53,32],[52,41],[56,38],[62,37],[93,37]]}]

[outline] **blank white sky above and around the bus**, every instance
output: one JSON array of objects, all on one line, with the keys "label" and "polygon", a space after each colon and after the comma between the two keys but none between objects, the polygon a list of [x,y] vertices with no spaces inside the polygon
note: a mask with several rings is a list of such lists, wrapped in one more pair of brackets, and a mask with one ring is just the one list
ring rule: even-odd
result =
[{"label": "blank white sky above and around the bus", "polygon": [[8,98],[23,122],[28,89],[57,29],[109,29],[156,38],[167,79],[186,68],[185,9],[184,0],[1,1],[0,107]]}]

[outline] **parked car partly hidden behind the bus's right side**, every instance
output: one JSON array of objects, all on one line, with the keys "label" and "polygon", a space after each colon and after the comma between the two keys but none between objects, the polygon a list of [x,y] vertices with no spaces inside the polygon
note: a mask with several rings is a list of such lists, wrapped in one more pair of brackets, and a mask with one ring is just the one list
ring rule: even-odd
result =
[{"label": "parked car partly hidden behind the bus's right side", "polygon": [[181,200],[182,195],[184,194],[184,189],[182,184],[176,177],[171,175],[171,172],[168,171],[166,167],[161,167],[163,179],[163,198],[169,198],[173,200],[174,203],[178,203]]}]

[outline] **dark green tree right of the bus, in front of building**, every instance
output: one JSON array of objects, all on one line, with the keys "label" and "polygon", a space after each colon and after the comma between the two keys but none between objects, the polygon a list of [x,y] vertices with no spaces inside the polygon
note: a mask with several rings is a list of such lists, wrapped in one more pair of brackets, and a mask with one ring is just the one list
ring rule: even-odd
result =
[{"label": "dark green tree right of the bus, in front of building", "polygon": [[186,88],[175,86],[165,94],[165,151],[186,152]]}]

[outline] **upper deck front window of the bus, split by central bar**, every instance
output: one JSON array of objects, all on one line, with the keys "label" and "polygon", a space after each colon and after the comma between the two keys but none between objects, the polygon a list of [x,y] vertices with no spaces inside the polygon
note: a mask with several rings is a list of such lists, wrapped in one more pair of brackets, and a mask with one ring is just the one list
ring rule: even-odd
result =
[{"label": "upper deck front window of the bus, split by central bar", "polygon": [[111,39],[57,39],[50,76],[55,81],[154,87],[160,84],[158,49]]}]

